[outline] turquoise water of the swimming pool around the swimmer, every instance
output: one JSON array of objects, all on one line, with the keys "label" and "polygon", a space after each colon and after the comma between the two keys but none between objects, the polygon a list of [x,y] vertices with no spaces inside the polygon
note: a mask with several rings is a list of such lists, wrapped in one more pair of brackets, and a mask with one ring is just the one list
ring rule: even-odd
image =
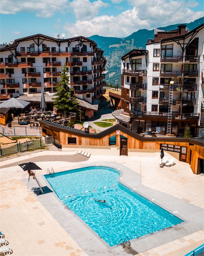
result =
[{"label": "turquoise water of the swimming pool around the swimmer", "polygon": [[119,176],[102,166],[59,172],[54,178],[45,175],[59,199],[110,246],[183,222],[120,184]]}]

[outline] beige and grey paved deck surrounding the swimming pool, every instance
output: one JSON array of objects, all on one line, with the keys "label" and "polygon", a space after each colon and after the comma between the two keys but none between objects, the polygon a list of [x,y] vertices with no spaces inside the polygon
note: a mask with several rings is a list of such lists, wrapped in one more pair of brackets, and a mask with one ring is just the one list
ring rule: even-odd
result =
[{"label": "beige and grey paved deck surrounding the swimming pool", "polygon": [[[46,174],[47,168],[51,167],[55,172],[96,164],[120,168],[120,182],[154,199],[168,211],[176,211],[174,214],[186,222],[132,241],[132,245],[125,249],[121,246],[110,249],[84,222],[65,208],[54,192],[27,195],[27,174],[19,166],[5,167],[5,164],[28,162],[33,156],[39,156],[41,160],[43,152],[33,153],[26,159],[19,157],[1,162],[4,164],[1,168],[1,231],[9,241],[13,255],[184,255],[202,243],[204,177],[193,174],[189,164],[176,161],[173,167],[159,168],[159,155],[92,155],[84,162],[65,162],[63,155],[70,154],[49,152],[49,155],[58,156],[55,162],[50,161],[48,152],[45,153],[48,162],[37,162],[36,159],[43,169],[37,171],[42,185],[48,184],[41,174]],[[60,156],[63,156],[62,161]],[[74,153],[72,156],[76,159]]]}]

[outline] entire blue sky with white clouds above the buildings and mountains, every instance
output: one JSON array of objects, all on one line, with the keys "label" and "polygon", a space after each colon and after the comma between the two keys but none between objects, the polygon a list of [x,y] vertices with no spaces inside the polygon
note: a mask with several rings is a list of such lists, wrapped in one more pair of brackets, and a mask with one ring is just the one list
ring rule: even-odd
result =
[{"label": "entire blue sky with white clouds above the buildings and mountains", "polygon": [[127,36],[203,16],[203,0],[1,0],[1,38]]}]

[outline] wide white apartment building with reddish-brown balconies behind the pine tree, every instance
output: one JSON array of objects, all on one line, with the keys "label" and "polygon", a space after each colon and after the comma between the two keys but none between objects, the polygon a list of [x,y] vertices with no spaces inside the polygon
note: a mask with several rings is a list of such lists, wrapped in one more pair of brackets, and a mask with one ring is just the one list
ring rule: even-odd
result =
[{"label": "wide white apartment building with reddish-brown balconies behind the pine tree", "polygon": [[53,95],[64,64],[70,87],[80,102],[92,104],[104,93],[106,59],[97,44],[83,36],[56,39],[31,35],[15,40],[0,53],[1,100],[23,94],[32,96],[41,90]]}]

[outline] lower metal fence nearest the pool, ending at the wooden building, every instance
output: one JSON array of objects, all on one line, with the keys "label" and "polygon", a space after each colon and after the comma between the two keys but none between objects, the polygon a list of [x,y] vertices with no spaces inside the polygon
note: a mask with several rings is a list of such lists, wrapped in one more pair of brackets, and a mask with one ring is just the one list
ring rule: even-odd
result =
[{"label": "lower metal fence nearest the pool, ending at the wooden building", "polygon": [[54,136],[35,139],[31,141],[25,141],[22,143],[18,142],[15,145],[10,147],[0,146],[0,155],[2,156],[2,155],[8,155],[8,154],[17,153],[17,152],[27,151],[30,149],[50,146],[52,144],[54,144]]}]

